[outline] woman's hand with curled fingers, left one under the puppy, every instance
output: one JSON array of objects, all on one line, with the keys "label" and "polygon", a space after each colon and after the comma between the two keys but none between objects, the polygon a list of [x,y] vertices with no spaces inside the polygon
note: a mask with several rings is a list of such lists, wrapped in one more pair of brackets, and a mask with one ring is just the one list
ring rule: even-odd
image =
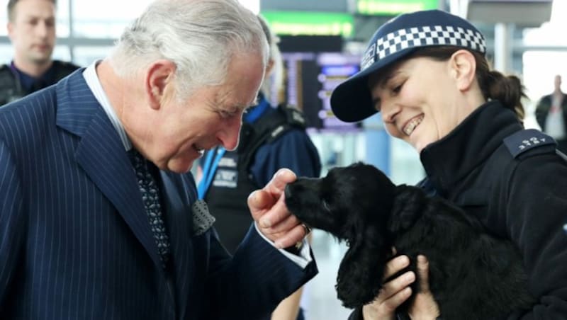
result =
[{"label": "woman's hand with curled fingers, left one under the puppy", "polygon": [[[410,265],[408,256],[398,256],[388,261],[384,279],[390,278],[403,268]],[[386,282],[378,297],[362,307],[362,316],[364,320],[390,320],[395,319],[395,309],[403,304],[410,295],[412,290],[409,285],[415,281],[415,274],[412,271],[403,273],[398,278]]]}]

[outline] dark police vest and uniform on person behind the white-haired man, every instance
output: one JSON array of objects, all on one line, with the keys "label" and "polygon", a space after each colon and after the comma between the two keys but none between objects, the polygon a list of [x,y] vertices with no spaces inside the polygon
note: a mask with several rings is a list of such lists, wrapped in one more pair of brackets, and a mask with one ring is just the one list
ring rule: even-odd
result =
[{"label": "dark police vest and uniform on person behind the white-haired man", "polygon": [[[267,103],[263,96],[261,101]],[[211,159],[208,153],[201,158],[203,168],[206,159]],[[216,218],[215,229],[230,253],[235,253],[254,221],[248,195],[262,188],[282,166],[299,176],[319,176],[321,171],[301,111],[288,105],[268,106],[253,123],[243,122],[238,148],[223,154],[204,195]]]}]

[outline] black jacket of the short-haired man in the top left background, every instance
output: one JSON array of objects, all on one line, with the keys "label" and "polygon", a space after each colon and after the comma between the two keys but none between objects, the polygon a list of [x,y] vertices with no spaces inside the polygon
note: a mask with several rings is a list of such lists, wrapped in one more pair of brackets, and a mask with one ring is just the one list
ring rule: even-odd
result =
[{"label": "black jacket of the short-haired man in the top left background", "polygon": [[77,69],[79,69],[79,66],[75,64],[54,60],[50,68],[50,72],[53,72],[51,81],[45,82],[43,86],[26,90],[21,84],[18,73],[13,72],[9,64],[2,64],[0,67],[0,106],[55,84]]}]

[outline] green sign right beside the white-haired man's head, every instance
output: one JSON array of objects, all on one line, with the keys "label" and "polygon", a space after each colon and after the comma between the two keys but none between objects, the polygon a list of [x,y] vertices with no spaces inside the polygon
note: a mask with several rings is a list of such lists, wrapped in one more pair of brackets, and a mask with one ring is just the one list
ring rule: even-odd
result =
[{"label": "green sign right beside the white-haired man's head", "polygon": [[313,11],[262,11],[271,30],[278,35],[342,35],[353,33],[349,13]]}]

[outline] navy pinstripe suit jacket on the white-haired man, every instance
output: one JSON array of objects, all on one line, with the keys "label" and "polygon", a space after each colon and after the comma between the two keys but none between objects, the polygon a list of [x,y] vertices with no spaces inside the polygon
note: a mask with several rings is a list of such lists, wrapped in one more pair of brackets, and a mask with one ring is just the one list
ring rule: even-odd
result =
[{"label": "navy pinstripe suit jacket on the white-haired man", "polygon": [[0,108],[0,318],[256,319],[315,275],[254,228],[233,258],[212,231],[193,235],[191,174],[161,178],[167,272],[82,69]]}]

